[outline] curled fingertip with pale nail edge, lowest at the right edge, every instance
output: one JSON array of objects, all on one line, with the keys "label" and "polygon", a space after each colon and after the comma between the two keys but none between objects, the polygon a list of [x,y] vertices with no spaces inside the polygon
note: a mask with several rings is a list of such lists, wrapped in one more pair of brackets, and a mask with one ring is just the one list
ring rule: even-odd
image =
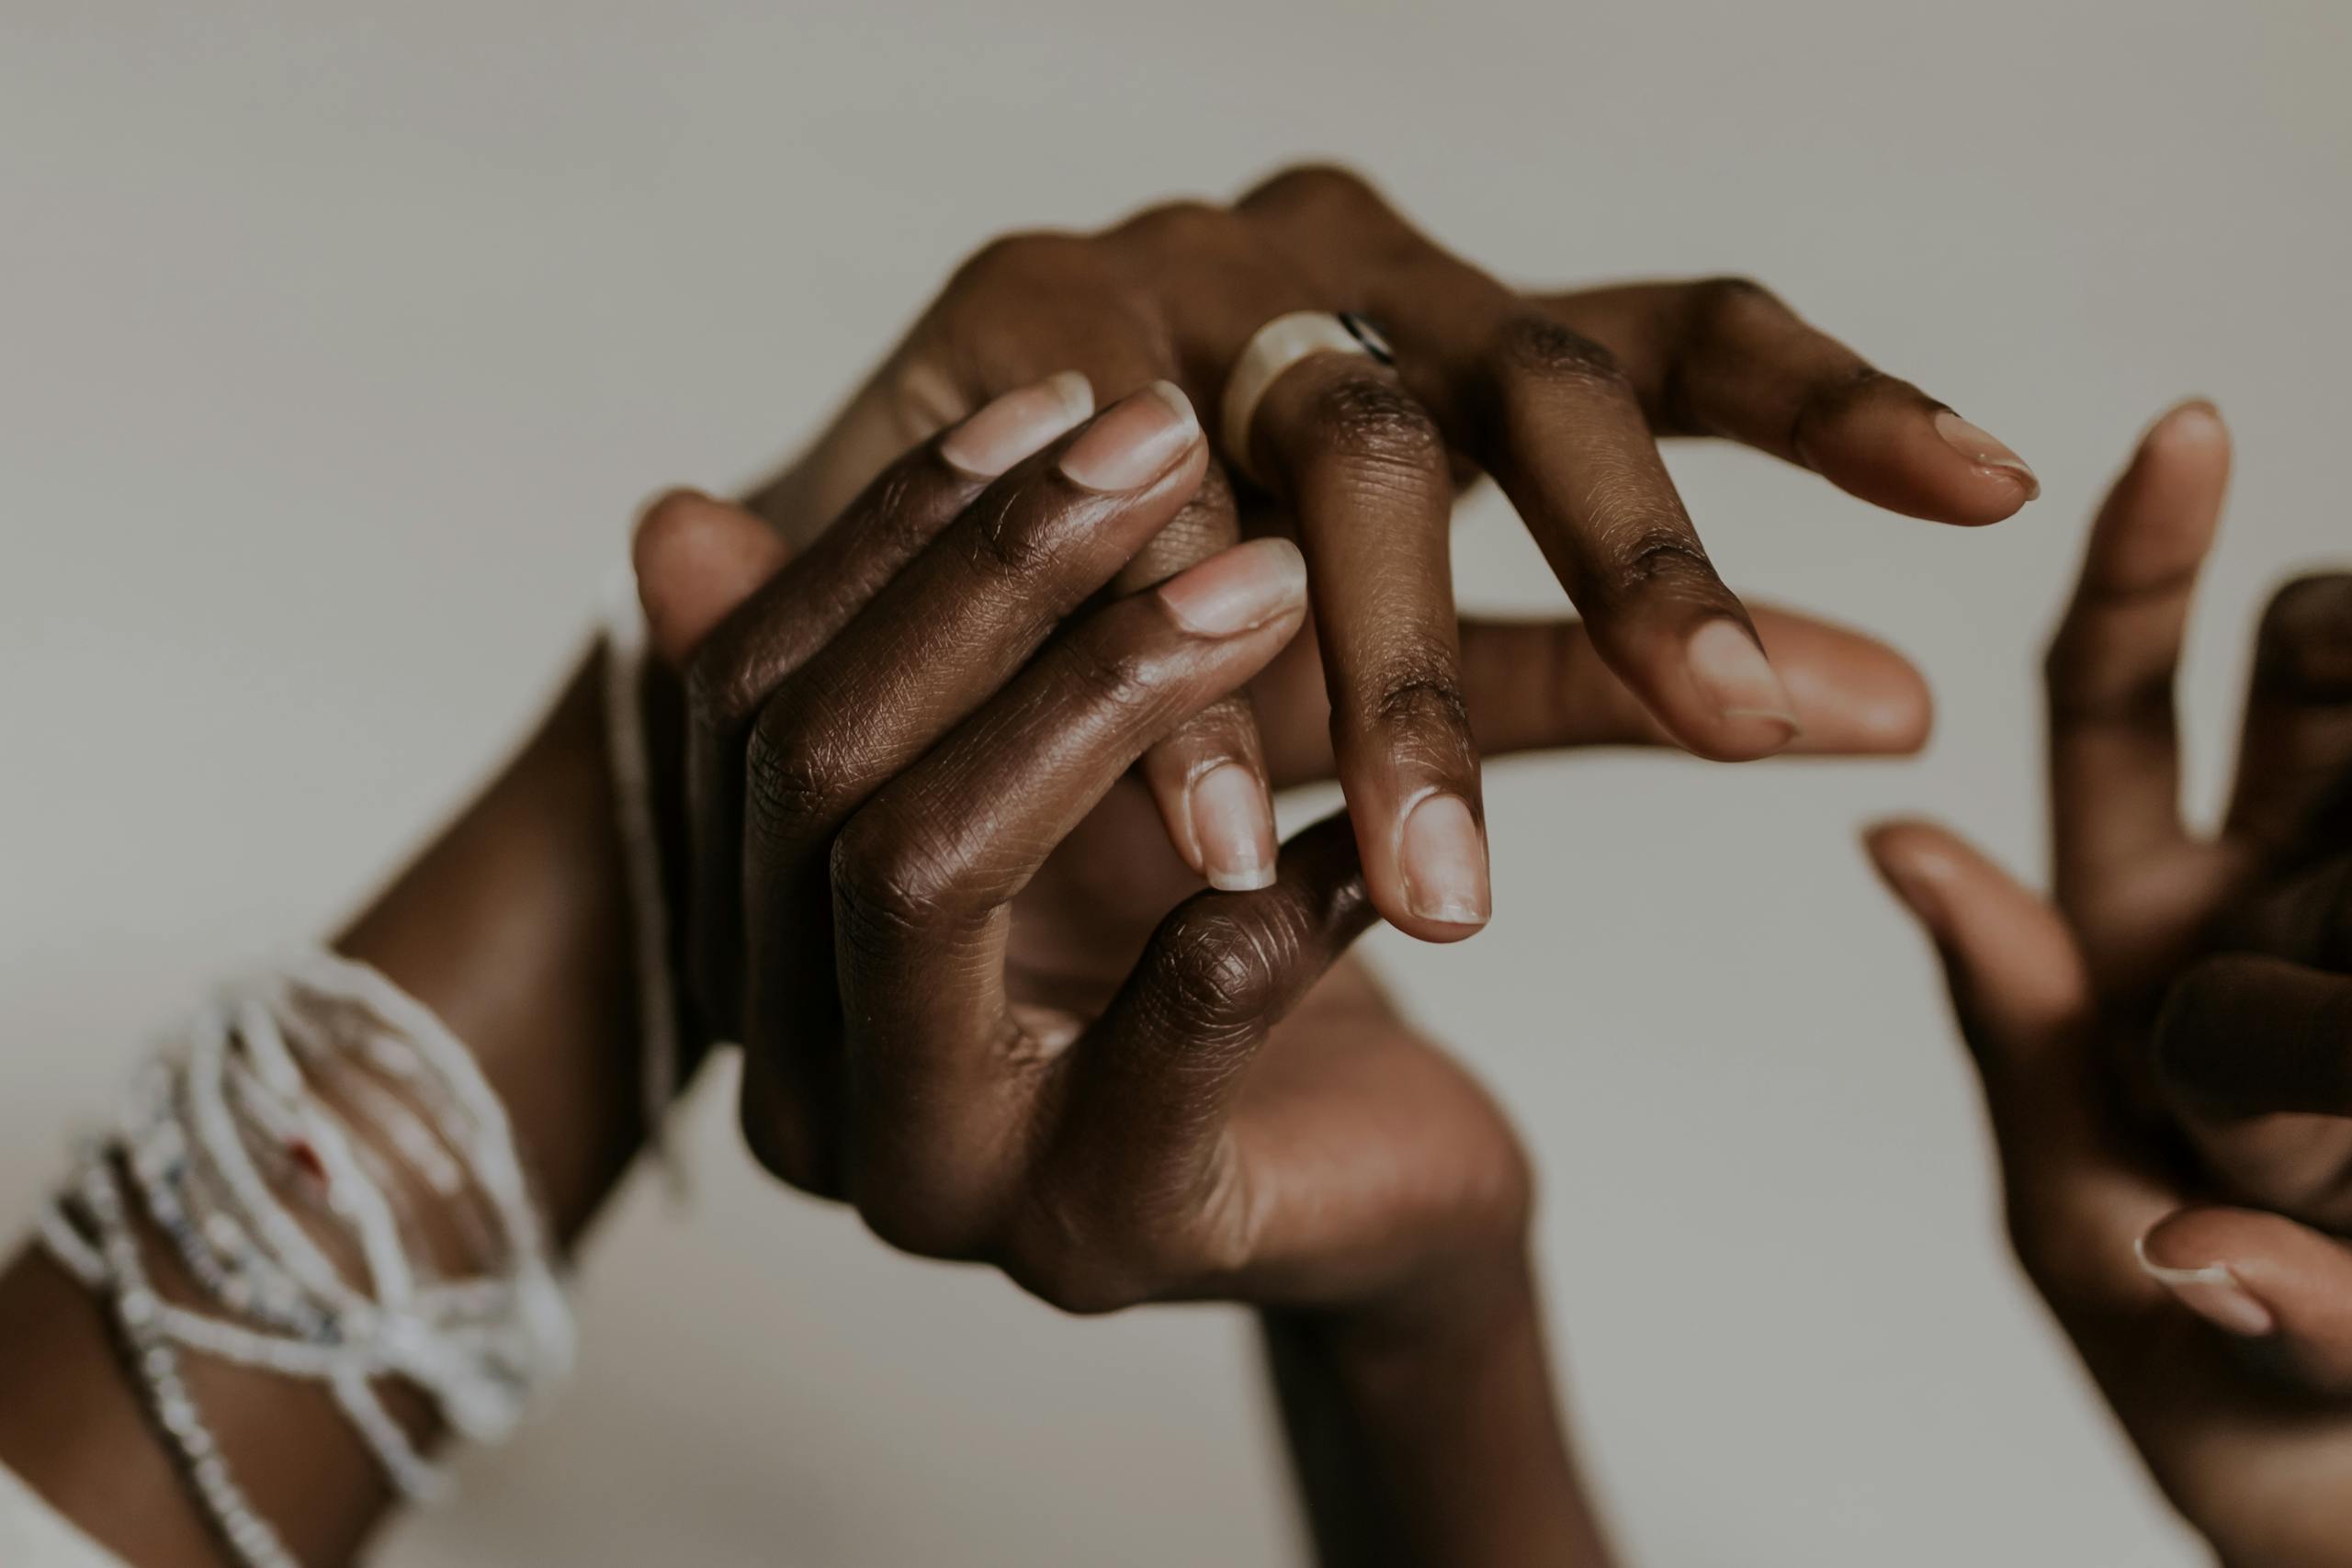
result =
[{"label": "curled fingertip with pale nail edge, lowest at the right edge", "polygon": [[2352,1251],[2284,1215],[2183,1208],[2138,1246],[2173,1300],[2263,1361],[2331,1394],[2352,1392]]}]

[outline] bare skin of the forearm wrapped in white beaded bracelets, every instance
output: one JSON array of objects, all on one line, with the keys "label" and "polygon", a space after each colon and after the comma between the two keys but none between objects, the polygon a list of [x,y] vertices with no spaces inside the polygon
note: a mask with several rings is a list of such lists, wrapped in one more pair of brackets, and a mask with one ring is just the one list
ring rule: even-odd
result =
[{"label": "bare skin of the forearm wrapped in white beaded bracelets", "polygon": [[[430,1006],[506,1100],[567,1241],[642,1138],[628,907],[600,668],[583,663],[499,778],[336,940]],[[174,1281],[148,1248],[160,1286]],[[254,1507],[308,1563],[353,1556],[390,1493],[310,1382],[186,1356],[191,1392]],[[96,1298],[47,1255],[0,1274],[0,1462],[132,1563],[219,1563],[153,1436]],[[395,1413],[430,1434],[421,1399]]]}]

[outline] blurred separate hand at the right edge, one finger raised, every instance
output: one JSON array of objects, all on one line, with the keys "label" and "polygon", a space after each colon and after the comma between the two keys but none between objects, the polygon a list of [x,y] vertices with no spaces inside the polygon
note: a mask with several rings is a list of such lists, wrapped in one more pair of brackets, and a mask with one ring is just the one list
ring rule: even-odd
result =
[{"label": "blurred separate hand at the right edge, one finger raised", "polygon": [[2018,1255],[2166,1495],[2230,1563],[2352,1563],[2352,576],[2272,599],[2227,820],[2190,832],[2171,686],[2227,468],[2185,404],[2091,531],[2056,907],[1938,827],[1870,851],[1943,952]]}]

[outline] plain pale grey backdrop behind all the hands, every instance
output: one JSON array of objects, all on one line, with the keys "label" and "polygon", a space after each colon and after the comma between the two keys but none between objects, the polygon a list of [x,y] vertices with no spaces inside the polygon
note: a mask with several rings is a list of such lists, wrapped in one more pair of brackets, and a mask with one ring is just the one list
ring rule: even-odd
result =
[{"label": "plain pale grey backdrop behind all the hands", "polygon": [[[1374,938],[1545,1180],[1562,1385],[1642,1563],[2190,1563],[2023,1293],[1936,976],[1856,853],[2042,856],[2032,668],[2098,487],[2241,437],[2187,679],[2343,552],[2352,12],[2307,5],[0,0],[0,1208],[207,973],[313,933],[576,646],[635,503],[743,482],[990,233],[1374,172],[1526,280],[1738,270],[2016,444],[1992,531],[1675,454],[1726,576],[1896,637],[1912,764],[1489,773],[1494,929]],[[1510,515],[1465,597],[1550,607]],[[440,1563],[1277,1563],[1244,1324],[1065,1321],[691,1112]]]}]

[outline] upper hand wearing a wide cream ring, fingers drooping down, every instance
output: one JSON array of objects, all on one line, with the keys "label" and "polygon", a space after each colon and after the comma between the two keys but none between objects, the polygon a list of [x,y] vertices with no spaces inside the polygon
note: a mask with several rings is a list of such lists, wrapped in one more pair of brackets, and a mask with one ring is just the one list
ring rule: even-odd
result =
[{"label": "upper hand wearing a wide cream ring, fingers drooping down", "polygon": [[[1298,541],[1315,637],[1254,691],[1265,745],[1329,722],[1374,905],[1428,940],[1468,936],[1491,910],[1468,682],[1494,637],[1456,623],[1458,482],[1498,480],[1585,614],[1576,649],[1658,731],[1719,759],[1785,748],[1804,701],[1759,651],[1771,630],[1708,564],[1658,437],[1738,440],[1943,522],[1994,522],[2034,494],[1997,440],[1755,284],[1519,294],[1362,179],[1296,169],[1230,209],[1155,207],[1091,237],[990,244],[755,505],[807,538],[910,444],[1061,369],[1103,400],[1167,378],[1214,411],[1249,336],[1298,308],[1369,315],[1397,369],[1319,355],[1284,374],[1251,449],[1216,451],[1195,503],[1115,585],[1167,578],[1244,531]],[[1228,470],[1265,489],[1235,496]],[[1510,649],[1534,651],[1526,635]],[[1526,677],[1555,679],[1541,663]],[[1178,853],[1218,886],[1270,875],[1270,762],[1284,759],[1261,755],[1242,703],[1211,705],[1145,755]]]}]

